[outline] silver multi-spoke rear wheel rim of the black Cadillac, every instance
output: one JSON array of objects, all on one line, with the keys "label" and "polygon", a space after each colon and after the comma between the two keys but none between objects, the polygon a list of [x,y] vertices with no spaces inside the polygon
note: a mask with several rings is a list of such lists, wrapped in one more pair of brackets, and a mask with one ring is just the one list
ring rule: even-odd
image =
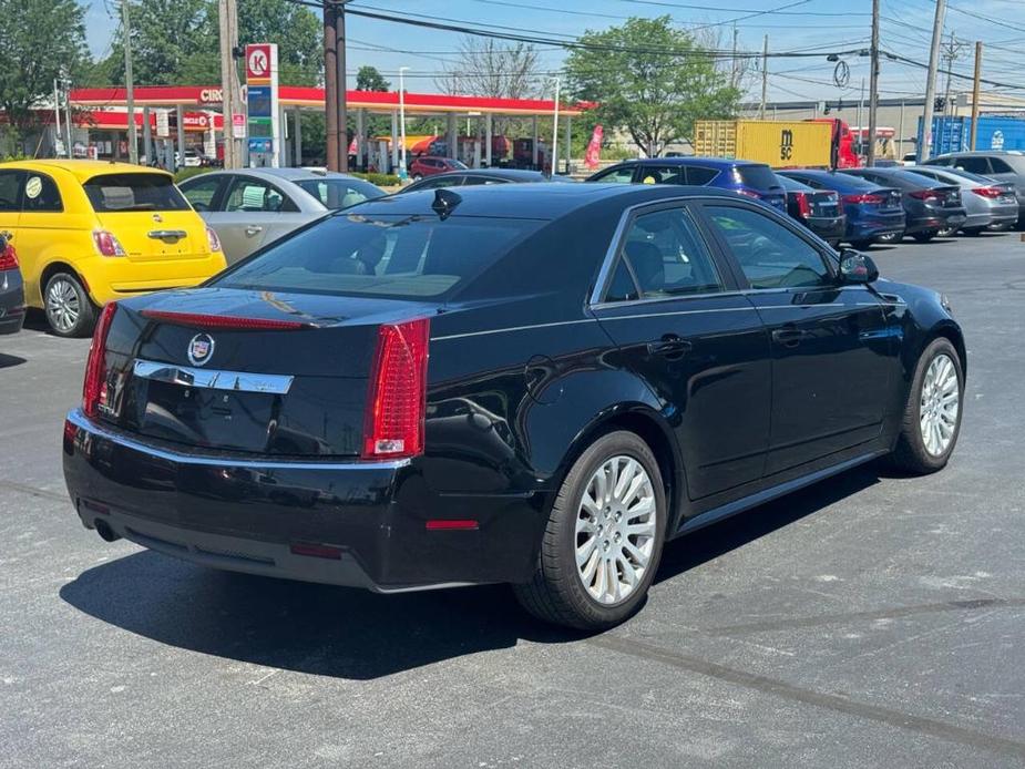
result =
[{"label": "silver multi-spoke rear wheel rim of the black Cadillac", "polygon": [[576,515],[576,571],[599,604],[625,601],[647,572],[655,548],[658,505],[644,465],[632,457],[605,461],[587,485]]}]

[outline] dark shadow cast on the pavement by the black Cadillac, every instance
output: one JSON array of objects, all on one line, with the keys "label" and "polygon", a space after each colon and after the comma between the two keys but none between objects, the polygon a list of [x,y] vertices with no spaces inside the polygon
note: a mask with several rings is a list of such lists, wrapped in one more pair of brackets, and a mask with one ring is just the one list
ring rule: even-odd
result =
[{"label": "dark shadow cast on the pavement by the black Cadillac", "polygon": [[[676,577],[878,479],[870,465],[672,542],[656,581]],[[90,616],[170,646],[360,680],[511,648],[520,639],[570,643],[587,635],[531,618],[504,585],[375,595],[218,572],[151,551],[94,566],[60,595]]]}]

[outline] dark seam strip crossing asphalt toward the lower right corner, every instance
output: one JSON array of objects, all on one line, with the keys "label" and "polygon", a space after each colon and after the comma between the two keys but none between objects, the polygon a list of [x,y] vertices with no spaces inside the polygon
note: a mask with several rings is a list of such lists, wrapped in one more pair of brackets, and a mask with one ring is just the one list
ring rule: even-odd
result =
[{"label": "dark seam strip crossing asphalt toward the lower right corner", "polygon": [[981,750],[988,750],[991,752],[1025,759],[1025,742],[1018,740],[997,737],[995,735],[975,731],[974,729],[966,729],[954,724],[946,724],[932,718],[913,716],[879,705],[858,703],[839,695],[803,689],[776,678],[760,676],[755,673],[746,673],[745,670],[737,670],[736,668],[710,663],[699,657],[691,657],[669,649],[659,648],[635,638],[606,633],[605,635],[588,638],[585,643],[609,652],[617,652],[632,657],[662,663],[663,665],[668,665],[669,667],[675,667],[680,670],[688,670],[701,676],[718,678],[729,684],[736,684],[738,686],[763,691],[765,694],[803,703],[804,705],[827,708],[857,718],[885,724],[886,726],[898,729],[916,731],[919,734],[929,735],[930,737],[960,742]]}]

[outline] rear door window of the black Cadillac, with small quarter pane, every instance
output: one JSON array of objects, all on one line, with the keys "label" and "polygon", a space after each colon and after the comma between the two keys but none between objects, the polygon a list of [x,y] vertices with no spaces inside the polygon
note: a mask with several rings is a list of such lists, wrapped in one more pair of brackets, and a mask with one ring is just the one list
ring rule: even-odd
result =
[{"label": "rear door window of the black Cadillac, with small quarter pane", "polygon": [[[722,290],[711,253],[684,208],[642,214],[631,225],[622,248],[643,298],[658,298]],[[617,286],[617,279],[621,284]],[[613,276],[613,294],[623,294],[625,281]]]}]

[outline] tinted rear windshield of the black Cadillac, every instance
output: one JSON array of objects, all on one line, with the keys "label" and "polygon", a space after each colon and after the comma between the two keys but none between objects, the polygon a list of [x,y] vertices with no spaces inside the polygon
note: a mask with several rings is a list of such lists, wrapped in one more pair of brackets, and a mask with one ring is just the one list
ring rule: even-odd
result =
[{"label": "tinted rear windshield of the black Cadillac", "polygon": [[437,298],[495,264],[545,223],[452,216],[332,216],[212,285],[396,299]]}]

